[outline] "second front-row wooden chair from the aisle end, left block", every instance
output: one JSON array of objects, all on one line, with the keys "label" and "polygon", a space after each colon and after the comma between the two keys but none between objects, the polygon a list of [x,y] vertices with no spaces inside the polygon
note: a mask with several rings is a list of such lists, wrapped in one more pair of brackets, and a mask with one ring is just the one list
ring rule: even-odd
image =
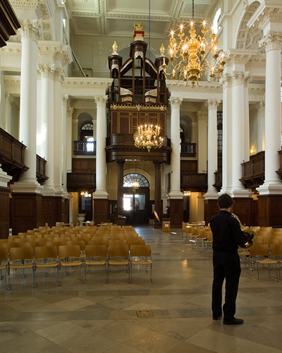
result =
[{"label": "second front-row wooden chair from the aisle end, left block", "polygon": [[129,248],[126,244],[109,245],[108,249],[108,282],[109,270],[111,266],[125,266],[128,273],[128,282],[130,283],[130,262],[129,262]]}]

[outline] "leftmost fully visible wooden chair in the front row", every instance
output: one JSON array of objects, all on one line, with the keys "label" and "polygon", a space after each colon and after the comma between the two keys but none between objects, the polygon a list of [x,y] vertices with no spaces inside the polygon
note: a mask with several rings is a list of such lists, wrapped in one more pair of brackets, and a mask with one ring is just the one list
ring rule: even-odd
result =
[{"label": "leftmost fully visible wooden chair in the front row", "polygon": [[[20,263],[15,263],[18,261],[20,261]],[[22,273],[22,278],[25,278],[25,269],[27,268],[32,269],[32,287],[35,288],[35,265],[32,247],[11,247],[11,249],[8,251],[7,289],[10,289],[10,270],[20,269]]]}]

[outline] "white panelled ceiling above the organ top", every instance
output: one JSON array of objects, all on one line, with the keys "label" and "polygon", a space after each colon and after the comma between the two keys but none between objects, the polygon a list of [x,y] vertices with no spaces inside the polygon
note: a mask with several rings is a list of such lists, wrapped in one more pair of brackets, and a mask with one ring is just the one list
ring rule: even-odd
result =
[{"label": "white panelled ceiling above the organ top", "polygon": [[[217,0],[195,0],[195,19],[211,16]],[[131,37],[140,21],[152,38],[164,38],[192,18],[192,0],[66,0],[73,35]]]}]

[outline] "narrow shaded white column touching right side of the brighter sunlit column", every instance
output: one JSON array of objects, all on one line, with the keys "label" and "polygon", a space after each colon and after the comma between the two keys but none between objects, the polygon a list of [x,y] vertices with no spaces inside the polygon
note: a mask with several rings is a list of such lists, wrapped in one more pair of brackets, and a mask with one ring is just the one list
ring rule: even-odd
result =
[{"label": "narrow shaded white column touching right side of the brighter sunlit column", "polygon": [[54,189],[55,196],[63,196],[63,112],[62,89],[63,68],[56,68],[54,73]]}]

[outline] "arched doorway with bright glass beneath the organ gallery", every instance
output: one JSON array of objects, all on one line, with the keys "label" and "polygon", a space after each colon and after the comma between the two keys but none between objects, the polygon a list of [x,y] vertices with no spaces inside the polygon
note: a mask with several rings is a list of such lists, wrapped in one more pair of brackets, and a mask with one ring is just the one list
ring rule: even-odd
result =
[{"label": "arched doorway with bright glass beneath the organ gallery", "polygon": [[130,225],[149,222],[149,181],[141,174],[123,177],[123,215]]}]

